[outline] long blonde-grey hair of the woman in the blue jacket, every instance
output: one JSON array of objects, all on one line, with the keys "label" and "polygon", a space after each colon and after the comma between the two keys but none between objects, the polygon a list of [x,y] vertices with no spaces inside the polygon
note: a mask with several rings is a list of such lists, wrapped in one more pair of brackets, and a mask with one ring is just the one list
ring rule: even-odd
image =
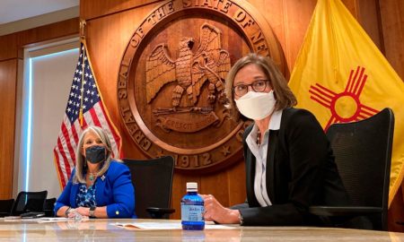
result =
[{"label": "long blonde-grey hair of the woman in the blue jacket", "polygon": [[[110,155],[111,155],[111,145],[110,139],[105,131],[99,126],[88,126],[84,129],[83,133],[80,135],[79,143],[75,149],[75,177],[73,177],[74,183],[85,183],[85,169],[87,167],[87,161],[82,154],[84,136],[92,132],[96,134],[103,144],[105,144],[105,149],[107,150],[106,160],[103,162],[101,169],[98,171],[98,176],[104,174],[110,167]],[[119,160],[118,160],[119,161]]]}]

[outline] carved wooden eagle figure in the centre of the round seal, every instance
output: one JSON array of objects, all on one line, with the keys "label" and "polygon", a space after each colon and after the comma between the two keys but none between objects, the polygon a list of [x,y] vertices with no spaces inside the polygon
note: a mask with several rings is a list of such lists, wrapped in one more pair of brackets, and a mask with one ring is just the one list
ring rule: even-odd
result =
[{"label": "carved wooden eagle figure in the centre of the round seal", "polygon": [[195,106],[206,81],[209,83],[209,104],[213,105],[216,98],[224,102],[224,78],[231,66],[229,53],[222,49],[221,31],[205,22],[200,28],[199,47],[195,54],[193,45],[192,38],[180,39],[180,53],[176,60],[171,59],[166,44],[153,49],[145,64],[147,103],[165,84],[177,82],[172,91],[173,110],[180,106],[184,91]]}]

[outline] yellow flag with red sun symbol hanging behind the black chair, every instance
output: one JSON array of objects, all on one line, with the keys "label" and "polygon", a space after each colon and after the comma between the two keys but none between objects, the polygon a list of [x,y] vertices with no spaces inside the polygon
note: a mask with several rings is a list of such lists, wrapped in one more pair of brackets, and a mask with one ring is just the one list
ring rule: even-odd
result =
[{"label": "yellow flag with red sun symbol hanging behind the black chair", "polygon": [[404,83],[340,0],[318,1],[289,86],[325,130],[393,109],[390,205],[403,177]]}]

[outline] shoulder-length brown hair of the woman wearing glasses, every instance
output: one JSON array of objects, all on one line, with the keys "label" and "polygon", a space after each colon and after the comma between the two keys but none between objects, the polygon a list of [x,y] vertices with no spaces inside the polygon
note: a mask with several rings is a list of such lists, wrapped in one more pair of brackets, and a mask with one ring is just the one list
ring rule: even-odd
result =
[{"label": "shoulder-length brown hair of the woman wearing glasses", "polygon": [[274,90],[275,99],[277,99],[277,104],[275,110],[280,110],[284,108],[291,108],[297,104],[297,100],[294,97],[294,93],[290,90],[284,75],[279,71],[277,65],[272,61],[270,57],[259,56],[256,53],[250,53],[247,56],[239,59],[232,67],[229,73],[227,73],[225,92],[227,97],[226,108],[229,108],[236,117],[238,114],[238,109],[234,102],[233,93],[233,82],[235,75],[246,65],[257,65],[268,77],[268,81]]}]

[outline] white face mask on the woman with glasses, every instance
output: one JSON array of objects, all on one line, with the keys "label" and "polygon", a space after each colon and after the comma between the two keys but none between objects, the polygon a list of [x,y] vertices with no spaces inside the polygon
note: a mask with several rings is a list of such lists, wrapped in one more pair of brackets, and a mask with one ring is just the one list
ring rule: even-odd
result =
[{"label": "white face mask on the woman with glasses", "polygon": [[268,117],[274,111],[277,103],[272,90],[269,92],[249,91],[242,98],[234,101],[242,115],[253,120]]}]

